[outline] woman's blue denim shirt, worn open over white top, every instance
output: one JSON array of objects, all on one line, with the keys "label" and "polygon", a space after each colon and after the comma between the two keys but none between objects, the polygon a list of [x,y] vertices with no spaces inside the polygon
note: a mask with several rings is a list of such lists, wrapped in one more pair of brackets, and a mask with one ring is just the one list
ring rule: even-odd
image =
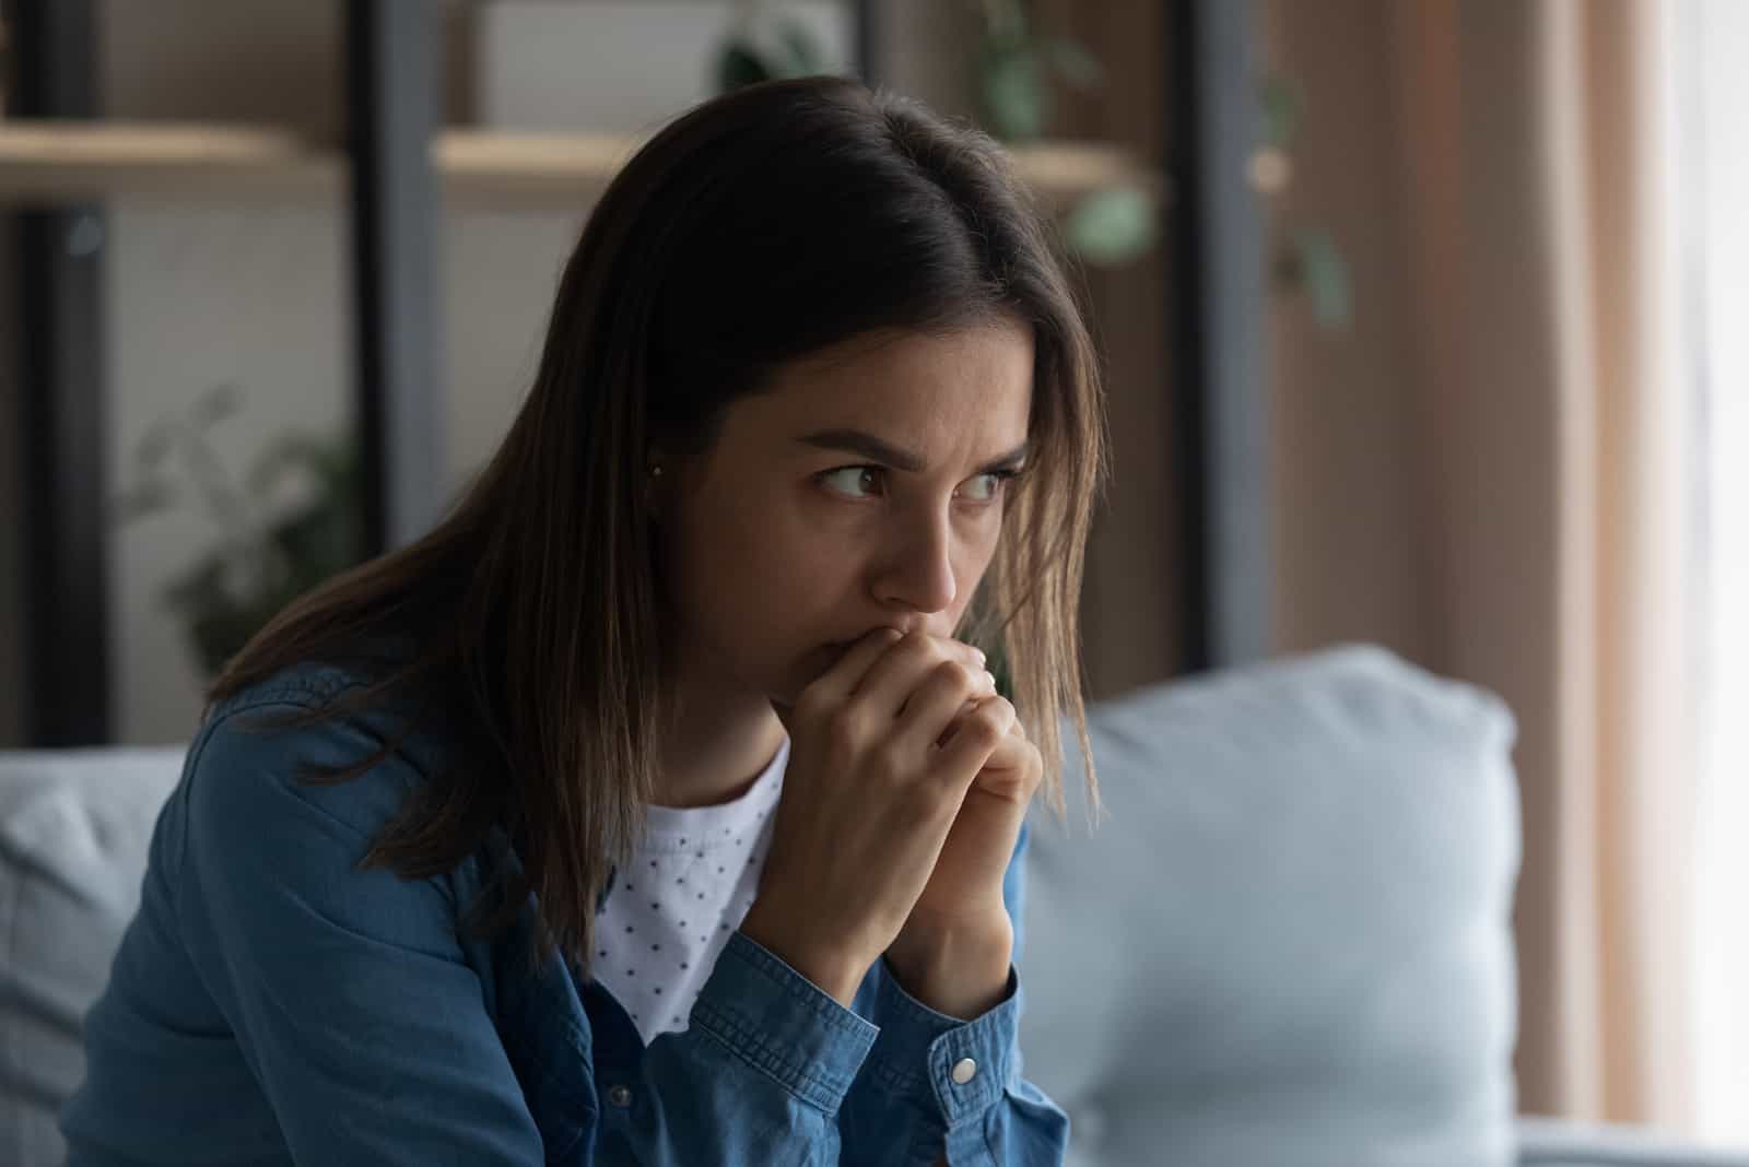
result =
[{"label": "woman's blue denim shirt, worn open over white top", "polygon": [[[561,956],[528,970],[532,901],[491,940],[458,928],[484,854],[427,879],[355,870],[449,746],[425,732],[322,786],[294,781],[299,763],[357,762],[390,722],[240,727],[355,683],[294,669],[203,723],[86,1019],[70,1167],[1062,1162],[1069,1120],[1021,1078],[1013,970],[971,1022],[915,1001],[885,961],[847,1010],[735,933],[687,1029],[645,1046]],[[1016,959],[1025,846],[1004,880]]]}]

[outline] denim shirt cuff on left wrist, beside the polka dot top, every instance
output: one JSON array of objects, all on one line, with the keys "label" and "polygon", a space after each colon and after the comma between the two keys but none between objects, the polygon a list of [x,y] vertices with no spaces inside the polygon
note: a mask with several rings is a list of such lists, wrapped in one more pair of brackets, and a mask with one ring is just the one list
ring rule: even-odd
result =
[{"label": "denim shirt cuff on left wrist, beside the polka dot top", "polygon": [[691,1024],[836,1115],[880,1032],[745,933],[729,933]]}]

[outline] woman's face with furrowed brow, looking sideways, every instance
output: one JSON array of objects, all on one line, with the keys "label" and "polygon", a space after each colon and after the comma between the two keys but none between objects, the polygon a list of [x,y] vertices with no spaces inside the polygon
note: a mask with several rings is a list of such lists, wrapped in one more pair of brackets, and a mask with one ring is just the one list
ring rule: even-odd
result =
[{"label": "woman's face with furrowed brow, looking sideways", "polygon": [[883,334],[787,365],[663,465],[666,601],[689,680],[780,704],[878,627],[950,636],[1025,459],[1032,334]]}]

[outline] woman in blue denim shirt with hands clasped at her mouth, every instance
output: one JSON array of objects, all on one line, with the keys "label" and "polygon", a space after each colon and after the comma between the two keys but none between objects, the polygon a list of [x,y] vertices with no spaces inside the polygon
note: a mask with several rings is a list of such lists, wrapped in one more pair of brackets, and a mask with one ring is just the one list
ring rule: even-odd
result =
[{"label": "woman in blue denim shirt with hands clasped at her mouth", "polygon": [[1013,961],[1102,463],[988,138],[675,121],[458,507],[219,678],[70,1162],[1058,1162]]}]

